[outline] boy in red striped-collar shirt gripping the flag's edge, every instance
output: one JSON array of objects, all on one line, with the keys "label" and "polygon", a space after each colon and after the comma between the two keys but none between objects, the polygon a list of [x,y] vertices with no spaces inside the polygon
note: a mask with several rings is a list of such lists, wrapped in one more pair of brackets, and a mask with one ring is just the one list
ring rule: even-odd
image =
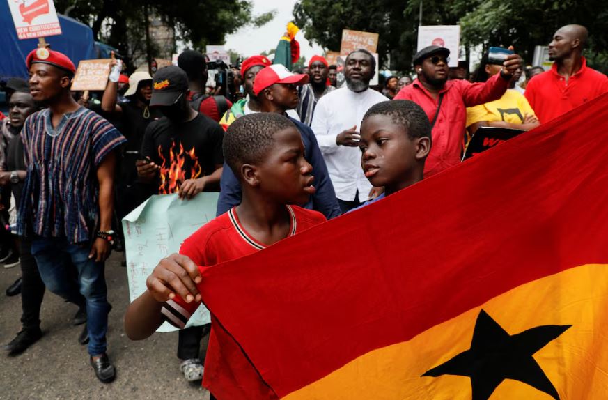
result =
[{"label": "boy in red striped-collar shirt gripping the flag's edge", "polygon": [[[185,326],[202,300],[198,266],[246,256],[325,221],[317,211],[290,206],[306,203],[315,188],[311,164],[304,160],[302,137],[288,118],[273,113],[238,118],[226,132],[223,150],[240,180],[242,202],[187,238],[180,254],[160,261],[146,281],[148,290],[127,309],[125,332],[130,339],[149,337],[164,321]],[[231,345],[219,347],[217,336],[226,333],[213,328],[216,323],[212,318],[203,385],[219,399],[228,398],[222,387],[271,397],[235,342],[224,337],[221,343]],[[227,364],[222,355],[228,353],[240,355],[240,360]],[[250,374],[240,374],[237,380],[233,369]]]}]

